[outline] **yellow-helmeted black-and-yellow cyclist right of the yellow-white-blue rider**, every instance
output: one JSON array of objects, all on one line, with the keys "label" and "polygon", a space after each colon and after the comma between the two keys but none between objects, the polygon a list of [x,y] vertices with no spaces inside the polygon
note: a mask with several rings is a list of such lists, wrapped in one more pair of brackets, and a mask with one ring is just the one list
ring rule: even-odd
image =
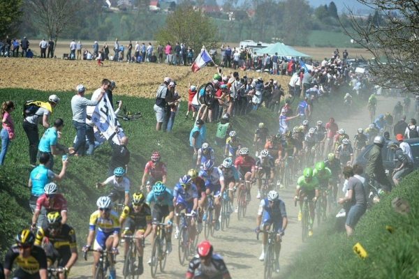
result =
[{"label": "yellow-helmeted black-and-yellow cyclist right of the yellow-white-blue rider", "polygon": [[[152,232],[152,209],[145,204],[145,197],[142,193],[133,193],[131,204],[126,205],[119,217],[121,224],[122,236],[134,235],[135,248],[138,251],[138,268],[137,274],[141,275],[144,272],[144,265],[142,259],[144,257],[144,248],[141,244],[141,239],[145,239]],[[124,261],[128,253],[128,241],[124,242]],[[124,271],[124,275],[126,271]]]}]

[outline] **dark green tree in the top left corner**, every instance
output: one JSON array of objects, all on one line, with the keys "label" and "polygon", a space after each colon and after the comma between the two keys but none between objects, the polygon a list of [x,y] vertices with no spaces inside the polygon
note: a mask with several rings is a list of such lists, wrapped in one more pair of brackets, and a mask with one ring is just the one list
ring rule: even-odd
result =
[{"label": "dark green tree in the top left corner", "polygon": [[0,38],[15,36],[22,17],[22,0],[0,0]]}]

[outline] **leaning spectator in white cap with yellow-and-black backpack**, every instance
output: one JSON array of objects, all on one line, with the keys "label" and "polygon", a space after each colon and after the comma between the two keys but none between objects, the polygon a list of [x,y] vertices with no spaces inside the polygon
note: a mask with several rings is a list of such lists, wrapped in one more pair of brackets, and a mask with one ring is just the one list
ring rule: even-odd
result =
[{"label": "leaning spectator in white cap with yellow-and-black backpack", "polygon": [[22,126],[29,140],[29,163],[32,167],[36,167],[36,156],[38,154],[38,124],[42,124],[44,128],[50,128],[50,123],[48,123],[50,114],[52,114],[52,109],[57,106],[58,103],[58,96],[51,95],[48,98],[47,103],[40,103],[40,106],[38,110],[36,110],[35,114],[24,117]]}]

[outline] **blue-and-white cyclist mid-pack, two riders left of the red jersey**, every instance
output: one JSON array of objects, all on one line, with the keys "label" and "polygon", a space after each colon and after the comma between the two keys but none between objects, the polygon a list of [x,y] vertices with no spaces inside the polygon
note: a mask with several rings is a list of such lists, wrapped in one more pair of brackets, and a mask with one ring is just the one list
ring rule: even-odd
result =
[{"label": "blue-and-white cyclist mid-pack, two riders left of the red jersey", "polygon": [[[214,220],[215,229],[220,229],[219,216],[221,211],[221,197],[225,190],[223,172],[219,167],[214,167],[212,160],[207,161],[203,165],[203,169],[199,172],[199,176],[205,181],[205,193],[208,195],[214,195]],[[207,220],[207,216],[204,213],[203,220]]]}]

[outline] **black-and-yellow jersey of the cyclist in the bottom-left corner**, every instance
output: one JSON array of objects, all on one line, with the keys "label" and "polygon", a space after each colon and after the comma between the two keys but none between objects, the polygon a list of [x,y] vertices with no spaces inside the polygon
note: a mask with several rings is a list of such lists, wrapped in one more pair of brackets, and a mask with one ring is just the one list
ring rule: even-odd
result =
[{"label": "black-and-yellow jersey of the cyclist in the bottom-left corner", "polygon": [[12,270],[13,264],[29,274],[36,274],[40,269],[47,269],[47,256],[43,248],[33,246],[29,257],[21,257],[17,244],[10,247],[4,260],[4,269]]}]

